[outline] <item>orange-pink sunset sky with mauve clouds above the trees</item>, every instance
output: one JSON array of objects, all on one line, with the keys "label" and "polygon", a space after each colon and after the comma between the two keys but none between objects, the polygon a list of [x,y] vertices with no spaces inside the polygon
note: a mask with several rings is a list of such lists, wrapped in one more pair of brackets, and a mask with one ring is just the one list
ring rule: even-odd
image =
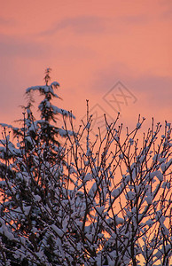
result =
[{"label": "orange-pink sunset sky with mauve clouds above the trees", "polygon": [[85,119],[86,99],[133,127],[137,117],[171,121],[171,0],[8,0],[0,9],[0,122],[22,116],[27,87],[46,67],[60,83],[55,104]]}]

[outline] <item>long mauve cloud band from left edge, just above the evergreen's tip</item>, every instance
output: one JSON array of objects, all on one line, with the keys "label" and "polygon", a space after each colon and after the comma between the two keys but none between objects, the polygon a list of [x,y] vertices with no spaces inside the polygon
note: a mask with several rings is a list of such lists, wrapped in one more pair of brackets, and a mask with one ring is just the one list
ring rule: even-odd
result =
[{"label": "long mauve cloud band from left edge, just above the evergreen's tip", "polygon": [[54,43],[35,42],[35,40],[21,39],[0,35],[0,56],[18,57],[23,59],[53,59],[54,57],[69,59],[92,58],[96,51],[78,43]]}]

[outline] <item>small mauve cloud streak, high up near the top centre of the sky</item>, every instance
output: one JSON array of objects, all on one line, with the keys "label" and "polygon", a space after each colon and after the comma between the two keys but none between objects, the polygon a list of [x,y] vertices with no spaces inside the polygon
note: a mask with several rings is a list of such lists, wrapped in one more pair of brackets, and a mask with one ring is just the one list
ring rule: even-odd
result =
[{"label": "small mauve cloud streak, high up near the top centre of the sky", "polygon": [[94,16],[83,16],[61,20],[51,28],[42,32],[42,35],[53,35],[59,30],[70,29],[76,34],[96,34],[105,31],[106,19]]}]

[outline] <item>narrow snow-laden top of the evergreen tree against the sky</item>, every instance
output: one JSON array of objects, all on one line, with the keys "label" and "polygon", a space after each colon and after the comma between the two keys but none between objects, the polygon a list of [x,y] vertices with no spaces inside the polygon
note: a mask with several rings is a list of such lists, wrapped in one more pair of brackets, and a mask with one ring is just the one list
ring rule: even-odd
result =
[{"label": "narrow snow-laden top of the evergreen tree against the sky", "polygon": [[[41,101],[40,105],[38,106],[39,113],[40,113],[40,120],[35,121],[34,123],[31,123],[31,129],[30,131],[35,131],[35,129],[40,126],[40,129],[38,131],[39,137],[46,145],[59,145],[59,140],[57,137],[66,137],[66,130],[61,129],[59,127],[56,127],[53,123],[57,123],[57,117],[56,115],[61,114],[64,116],[72,116],[74,115],[72,113],[69,113],[68,111],[59,108],[58,106],[53,106],[51,103],[51,100],[53,98],[59,98],[59,96],[55,93],[55,89],[59,88],[59,82],[51,82],[49,85],[49,82],[51,80],[50,77],[51,68],[47,68],[45,71],[45,85],[44,86],[35,86],[27,88],[26,93],[30,94],[32,91],[39,91],[40,94],[43,96],[43,100]],[[31,98],[32,99],[32,98]],[[31,101],[32,102],[32,101]],[[29,103],[29,106],[31,106],[31,103]],[[28,109],[28,113],[30,113],[30,110]],[[69,133],[69,132],[68,132]]]}]

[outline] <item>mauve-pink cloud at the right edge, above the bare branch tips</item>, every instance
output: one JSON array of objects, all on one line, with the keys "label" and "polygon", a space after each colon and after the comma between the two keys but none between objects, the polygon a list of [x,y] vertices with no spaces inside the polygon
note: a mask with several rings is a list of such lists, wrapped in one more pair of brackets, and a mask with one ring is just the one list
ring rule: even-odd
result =
[{"label": "mauve-pink cloud at the right edge, above the bare branch tips", "polygon": [[94,74],[96,79],[92,87],[95,88],[95,91],[101,91],[103,96],[116,82],[121,81],[129,86],[129,90],[133,90],[133,93],[137,94],[137,98],[139,95],[145,95],[147,100],[152,98],[154,103],[161,103],[161,106],[171,105],[172,77],[133,74],[127,65],[116,62],[105,69],[99,69]]}]

